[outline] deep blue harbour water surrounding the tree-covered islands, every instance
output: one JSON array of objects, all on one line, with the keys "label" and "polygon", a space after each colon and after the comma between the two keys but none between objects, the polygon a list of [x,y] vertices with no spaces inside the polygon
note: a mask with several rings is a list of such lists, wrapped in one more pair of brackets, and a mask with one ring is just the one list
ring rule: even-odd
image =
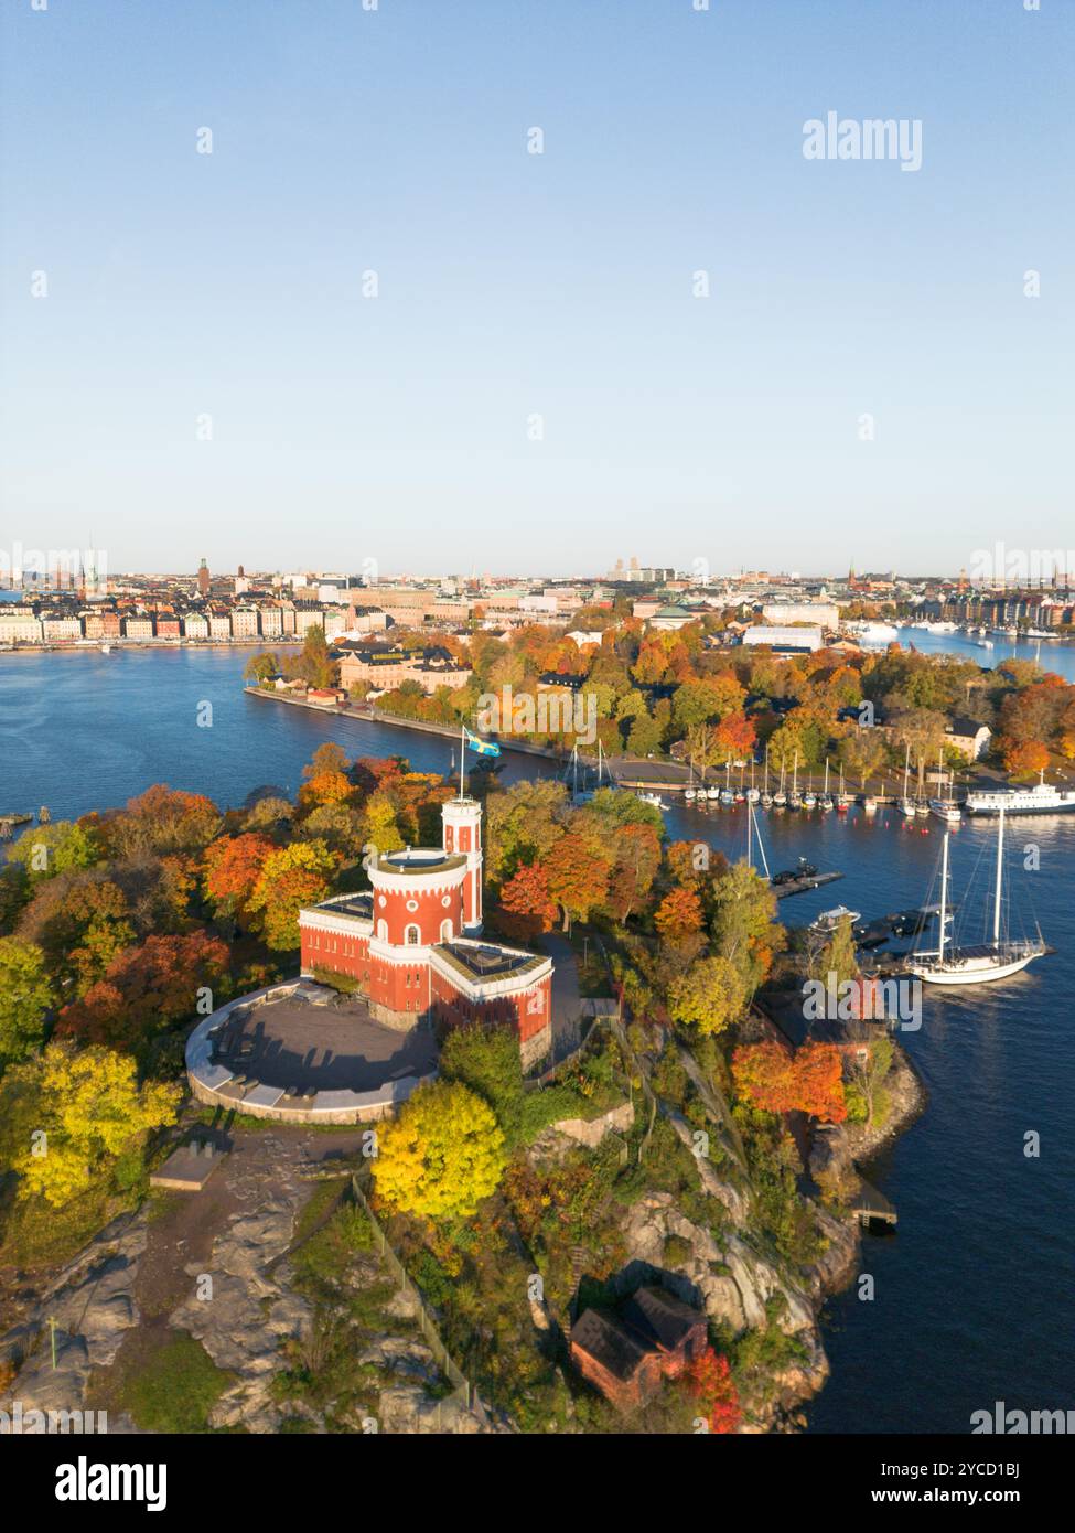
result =
[{"label": "deep blue harbour water surrounding the tree-covered islands", "polygon": [[[923,650],[931,641],[955,647],[920,630],[911,636]],[[1034,658],[1037,645],[1024,647]],[[1050,668],[1070,673],[1069,648],[1043,650]],[[123,803],[152,782],[221,805],[262,783],[294,793],[328,739],[350,754],[405,754],[417,768],[448,770],[448,740],[247,698],[244,661],[228,650],[0,656],[0,809],[48,803],[58,819]],[[212,728],[196,722],[204,702],[213,705]],[[508,780],[547,770],[505,753]],[[873,917],[928,895],[935,820],[908,826],[891,809],[759,820],[773,869],[805,855],[847,875],[782,901],[788,921],[840,903]],[[742,806],[682,805],[667,828],[730,857],[745,848]],[[828,1308],[833,1378],[810,1409],[814,1432],[966,1432],[971,1412],[995,1400],[1024,1410],[1072,1404],[1075,816],[1012,820],[1009,832],[1014,863],[1026,845],[1040,846],[1041,871],[1012,883],[1058,952],[995,986],[926,989],[922,1030],[902,1035],[929,1105],[871,1170],[900,1222],[893,1236],[863,1243],[874,1302],[851,1289]],[[957,897],[994,835],[988,822],[954,832]],[[1041,1136],[1038,1159],[1023,1154],[1031,1130]]]}]

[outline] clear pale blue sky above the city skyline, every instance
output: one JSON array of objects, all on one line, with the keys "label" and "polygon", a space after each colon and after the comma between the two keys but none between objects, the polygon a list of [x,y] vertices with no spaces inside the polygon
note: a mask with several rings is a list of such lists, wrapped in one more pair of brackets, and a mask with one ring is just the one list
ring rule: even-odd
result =
[{"label": "clear pale blue sky above the city skyline", "polygon": [[[1072,0],[5,0],[2,43],[8,547],[1075,544]],[[828,110],[922,169],[805,159]]]}]

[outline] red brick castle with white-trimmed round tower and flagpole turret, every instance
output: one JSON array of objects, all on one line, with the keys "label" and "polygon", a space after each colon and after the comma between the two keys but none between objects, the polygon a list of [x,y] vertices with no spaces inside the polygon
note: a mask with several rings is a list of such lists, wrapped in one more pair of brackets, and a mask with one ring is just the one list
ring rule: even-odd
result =
[{"label": "red brick castle with white-trimmed round tower and flagpole turret", "polygon": [[376,852],[373,889],[299,912],[302,973],[357,981],[393,1027],[512,1023],[523,1067],[552,1046],[552,960],[482,940],[482,805],[442,808],[443,846]]}]

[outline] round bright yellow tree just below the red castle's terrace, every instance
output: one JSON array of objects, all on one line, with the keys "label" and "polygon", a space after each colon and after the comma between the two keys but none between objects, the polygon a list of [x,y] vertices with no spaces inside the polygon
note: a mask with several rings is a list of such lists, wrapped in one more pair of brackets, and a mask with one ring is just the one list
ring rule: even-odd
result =
[{"label": "round bright yellow tree just below the red castle's terrace", "polygon": [[373,1177],[393,1208],[425,1219],[472,1214],[503,1176],[505,1136],[492,1108],[465,1085],[420,1085],[377,1134]]}]

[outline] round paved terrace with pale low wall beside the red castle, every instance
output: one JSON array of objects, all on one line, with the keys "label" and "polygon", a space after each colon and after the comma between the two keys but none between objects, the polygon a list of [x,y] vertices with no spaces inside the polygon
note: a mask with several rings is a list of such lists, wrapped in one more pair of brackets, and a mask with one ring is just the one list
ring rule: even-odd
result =
[{"label": "round paved terrace with pale low wall beside the red castle", "polygon": [[199,1101],[284,1122],[385,1118],[436,1073],[428,1030],[385,1027],[359,996],[307,980],[228,1001],[187,1039]]}]

